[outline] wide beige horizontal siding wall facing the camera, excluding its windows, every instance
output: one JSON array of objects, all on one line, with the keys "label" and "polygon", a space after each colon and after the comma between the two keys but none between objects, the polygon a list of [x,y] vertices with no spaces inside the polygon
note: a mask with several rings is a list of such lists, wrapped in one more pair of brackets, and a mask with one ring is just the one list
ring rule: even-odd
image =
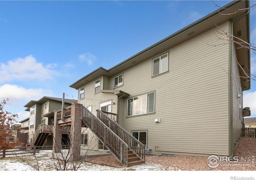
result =
[{"label": "wide beige horizontal siding wall facing the camera, excluding its windows", "polygon": [[[228,29],[228,22],[221,27]],[[126,102],[125,111],[119,112],[119,124],[128,132],[148,131],[152,153],[228,155],[228,74],[224,70],[228,71],[229,47],[210,43],[220,44],[213,30],[162,52],[169,53],[169,72],[158,76],[152,77],[152,59],[161,54],[124,72],[120,90],[130,97],[156,91],[155,113],[126,118]]]}]

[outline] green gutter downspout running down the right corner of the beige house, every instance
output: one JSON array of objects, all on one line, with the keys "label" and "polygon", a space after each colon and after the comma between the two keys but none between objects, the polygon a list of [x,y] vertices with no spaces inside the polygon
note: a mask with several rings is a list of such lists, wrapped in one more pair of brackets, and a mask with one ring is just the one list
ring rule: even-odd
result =
[{"label": "green gutter downspout running down the right corner of the beige house", "polygon": [[[249,4],[250,6],[250,4]],[[234,21],[231,22],[231,34],[234,36],[234,32],[233,32],[233,27],[234,27],[234,22],[236,22],[237,20],[239,20],[240,18],[247,16],[249,14],[249,9],[247,10],[247,12],[245,14],[243,14],[242,16],[240,16],[239,18],[235,19]],[[249,20],[250,21],[250,20]],[[250,27],[249,27],[249,31],[250,31]],[[233,40],[233,37],[232,37]],[[232,73],[232,57],[233,57],[233,47],[234,47],[234,43],[230,44],[230,74]],[[230,76],[230,86],[229,86],[229,98],[230,98],[230,126],[229,126],[229,154],[230,156],[233,156],[233,151],[234,151],[234,147],[233,147],[233,99],[232,99],[232,75]],[[243,107],[243,106],[242,106]]]}]

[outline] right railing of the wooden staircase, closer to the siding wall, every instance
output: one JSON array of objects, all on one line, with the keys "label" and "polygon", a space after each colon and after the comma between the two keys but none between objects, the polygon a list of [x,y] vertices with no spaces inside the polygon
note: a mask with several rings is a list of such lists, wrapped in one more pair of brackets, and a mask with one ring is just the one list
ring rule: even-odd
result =
[{"label": "right railing of the wooden staircase, closer to the siding wall", "polygon": [[140,160],[143,160],[145,163],[145,147],[139,140],[122,128],[119,124],[110,119],[104,112],[101,110],[97,111],[97,117],[104,123],[108,128],[110,128],[118,137],[120,137],[129,148],[140,157]]}]

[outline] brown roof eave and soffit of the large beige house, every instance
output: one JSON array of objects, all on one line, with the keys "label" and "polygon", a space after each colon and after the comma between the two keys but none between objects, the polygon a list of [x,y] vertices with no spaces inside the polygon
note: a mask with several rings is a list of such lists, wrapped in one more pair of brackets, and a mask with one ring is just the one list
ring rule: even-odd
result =
[{"label": "brown roof eave and soffit of the large beige house", "polygon": [[[228,20],[231,20],[232,22],[236,21],[236,23],[234,23],[234,30],[233,30],[234,34],[236,34],[236,32],[243,32],[242,36],[239,36],[239,38],[247,41],[250,39],[249,11],[246,10],[246,11],[234,13],[234,11],[231,11],[231,10],[240,10],[240,9],[242,10],[248,7],[249,7],[249,1],[236,1],[236,0],[232,1],[226,6],[219,8],[218,10],[212,12],[211,14],[208,14],[207,16],[201,18],[200,20],[186,26],[185,28],[182,28],[181,30],[175,32],[174,34],[164,38],[163,40],[160,40],[159,42],[142,50],[141,52],[138,52],[134,56],[124,60],[123,62],[117,64],[116,66],[108,70],[106,70],[105,68],[99,67],[98,69],[92,71],[91,73],[87,74],[83,78],[71,84],[70,87],[78,89],[83,85],[87,84],[88,82],[91,82],[96,78],[99,78],[102,75],[106,75],[108,77],[114,76],[132,66],[135,66],[136,64],[144,60],[153,58],[154,56],[156,56],[156,54],[160,54],[165,50],[168,50],[171,47],[176,46],[177,44],[180,44],[190,38],[193,38],[206,30],[214,28],[216,26],[215,24],[221,24],[222,22],[226,22]],[[221,15],[220,13],[230,14],[230,15]],[[211,21],[209,20],[209,18],[211,18]],[[212,22],[214,22],[215,24]],[[249,74],[250,73],[250,51],[248,51],[245,48],[240,48],[239,50],[236,50],[236,51],[237,51],[236,54],[237,54],[238,60],[240,61],[240,64],[246,67],[244,68],[244,70],[246,71],[246,73]],[[240,74],[241,76],[243,76],[244,72],[240,70]],[[243,90],[250,89],[250,79],[242,80],[242,88]]]}]

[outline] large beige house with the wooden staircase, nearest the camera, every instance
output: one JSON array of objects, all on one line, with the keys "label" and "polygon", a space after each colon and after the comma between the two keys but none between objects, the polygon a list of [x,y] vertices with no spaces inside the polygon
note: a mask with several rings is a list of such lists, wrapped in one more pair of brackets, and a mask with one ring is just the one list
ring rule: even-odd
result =
[{"label": "large beige house with the wooden staircase, nearest the camera", "polygon": [[232,156],[242,135],[243,91],[250,89],[238,62],[250,72],[250,52],[225,33],[250,42],[249,14],[225,9],[248,7],[233,1],[108,70],[92,71],[70,85],[78,103],[111,116],[148,154]]}]

